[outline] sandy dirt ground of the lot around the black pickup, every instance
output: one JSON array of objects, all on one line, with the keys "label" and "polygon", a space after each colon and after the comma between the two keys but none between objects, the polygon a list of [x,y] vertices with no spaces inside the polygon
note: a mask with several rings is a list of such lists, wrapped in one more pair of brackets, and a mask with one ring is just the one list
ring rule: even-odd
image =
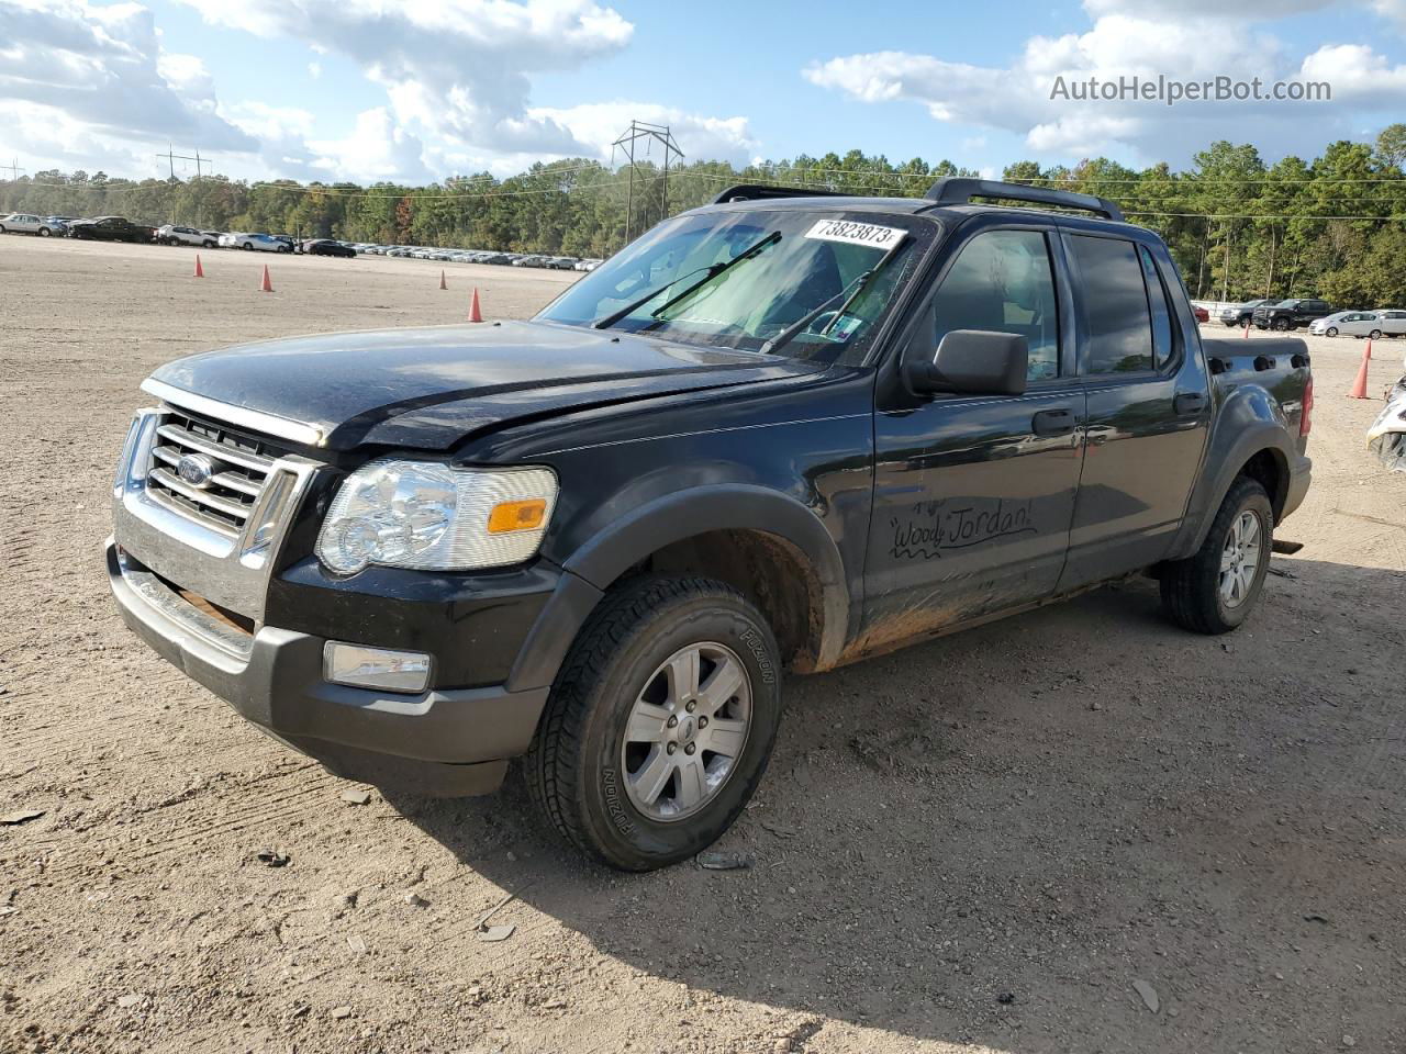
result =
[{"label": "sandy dirt ground of the lot around the black pickup", "polygon": [[1406,1050],[1406,475],[1344,398],[1360,341],[1310,341],[1305,548],[1240,632],[1137,582],[794,677],[721,846],[754,866],[623,877],[515,780],[344,801],[128,634],[100,561],[156,364],[574,275],[193,261],[0,238],[0,815],[42,811],[0,825],[6,1054]]}]

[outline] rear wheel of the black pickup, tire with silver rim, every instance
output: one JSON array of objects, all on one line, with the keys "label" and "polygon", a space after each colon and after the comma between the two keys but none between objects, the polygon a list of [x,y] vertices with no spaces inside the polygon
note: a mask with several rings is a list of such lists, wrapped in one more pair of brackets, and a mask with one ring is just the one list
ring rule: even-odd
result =
[{"label": "rear wheel of the black pickup, tire with silver rim", "polygon": [[1260,599],[1272,544],[1270,496],[1257,481],[1239,476],[1197,554],[1163,566],[1161,603],[1167,614],[1198,634],[1234,630]]}]

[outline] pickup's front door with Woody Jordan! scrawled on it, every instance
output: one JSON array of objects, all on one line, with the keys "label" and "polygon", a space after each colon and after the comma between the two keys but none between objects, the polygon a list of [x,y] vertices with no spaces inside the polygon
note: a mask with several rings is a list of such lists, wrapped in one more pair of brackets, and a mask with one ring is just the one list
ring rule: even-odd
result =
[{"label": "pickup's front door with Woody Jordan! scrawled on it", "polygon": [[981,225],[950,257],[907,341],[907,354],[931,358],[955,329],[1022,333],[1025,395],[917,401],[880,379],[865,651],[1054,590],[1078,488],[1084,395],[1071,377],[1070,299],[1056,280],[1053,236]]}]

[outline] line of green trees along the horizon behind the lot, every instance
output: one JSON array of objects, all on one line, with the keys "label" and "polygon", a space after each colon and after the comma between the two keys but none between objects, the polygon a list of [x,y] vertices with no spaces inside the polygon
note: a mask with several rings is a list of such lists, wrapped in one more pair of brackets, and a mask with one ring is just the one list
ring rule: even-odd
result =
[{"label": "line of green trees along the horizon behind the lot", "polygon": [[[1132,169],[1107,157],[1073,166],[1022,160],[1002,178],[1115,201],[1157,230],[1192,297],[1323,297],[1351,306],[1406,305],[1406,124],[1375,142],[1339,141],[1312,160],[1268,164],[1251,145],[1215,142],[1185,170]],[[41,171],[0,180],[0,212],[124,215],[142,223],[266,230],[439,247],[605,257],[665,216],[734,183],[860,195],[921,197],[943,160],[893,163],[851,150],[735,167],[725,162],[612,169],[567,159],[508,178],[491,173],[427,187],[249,183],[224,176],[128,180]]]}]

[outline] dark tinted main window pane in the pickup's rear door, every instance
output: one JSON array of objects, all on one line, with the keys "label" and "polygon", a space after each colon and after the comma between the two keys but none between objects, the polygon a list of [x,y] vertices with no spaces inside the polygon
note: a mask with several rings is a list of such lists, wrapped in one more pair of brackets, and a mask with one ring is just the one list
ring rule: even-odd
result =
[{"label": "dark tinted main window pane in the pickup's rear door", "polygon": [[[1153,368],[1152,309],[1143,266],[1132,242],[1116,238],[1069,239],[1078,263],[1088,318],[1090,374],[1130,374]],[[1163,298],[1163,313],[1167,302]],[[1170,344],[1170,334],[1168,334]]]}]

